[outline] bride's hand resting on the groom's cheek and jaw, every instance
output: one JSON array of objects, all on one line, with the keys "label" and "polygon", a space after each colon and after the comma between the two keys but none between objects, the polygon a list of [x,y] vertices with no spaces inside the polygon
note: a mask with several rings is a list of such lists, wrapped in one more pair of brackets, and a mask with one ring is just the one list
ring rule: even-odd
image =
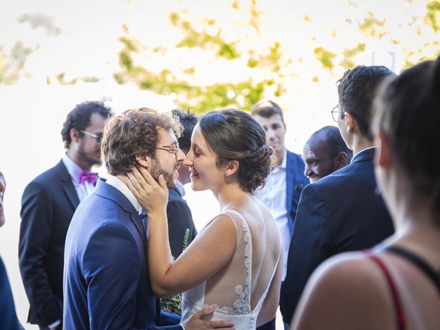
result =
[{"label": "bride's hand resting on the groom's cheek and jaw", "polygon": [[159,175],[157,182],[148,170],[140,167],[132,168],[127,177],[127,186],[148,214],[166,210],[168,187],[163,175]]}]

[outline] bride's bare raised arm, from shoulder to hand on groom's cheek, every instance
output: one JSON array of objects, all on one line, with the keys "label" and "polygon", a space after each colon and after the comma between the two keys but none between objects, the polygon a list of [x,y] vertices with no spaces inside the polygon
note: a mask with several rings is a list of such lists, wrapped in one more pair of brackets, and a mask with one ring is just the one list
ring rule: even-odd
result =
[{"label": "bride's bare raised arm, from shoulder to hand on groom's cheek", "polygon": [[232,259],[236,249],[236,228],[230,217],[220,215],[173,263],[166,219],[166,182],[161,175],[158,184],[148,171],[140,170],[142,175],[136,170],[129,175],[128,185],[148,213],[151,288],[158,297],[173,296],[206,281]]}]

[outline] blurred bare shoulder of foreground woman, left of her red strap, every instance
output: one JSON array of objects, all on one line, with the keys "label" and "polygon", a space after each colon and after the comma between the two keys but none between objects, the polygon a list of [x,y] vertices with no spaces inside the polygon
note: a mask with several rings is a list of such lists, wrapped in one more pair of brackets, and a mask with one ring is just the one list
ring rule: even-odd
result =
[{"label": "blurred bare shoulder of foreground woman, left of her red strap", "polygon": [[[393,322],[392,307],[380,268],[363,252],[346,252],[328,259],[312,274],[296,318],[303,325],[325,322],[327,329],[350,329],[359,322],[374,329],[374,324]],[[323,317],[318,321],[314,315]],[[375,320],[370,320],[372,315]],[[342,323],[347,327],[340,327]]]}]

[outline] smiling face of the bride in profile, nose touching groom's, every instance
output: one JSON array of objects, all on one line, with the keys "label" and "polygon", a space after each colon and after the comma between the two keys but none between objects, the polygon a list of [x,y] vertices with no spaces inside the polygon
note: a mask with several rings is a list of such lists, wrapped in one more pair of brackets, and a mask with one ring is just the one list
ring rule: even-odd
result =
[{"label": "smiling face of the bride in profile, nose touching groom's", "polygon": [[192,190],[218,190],[224,183],[224,168],[217,167],[217,155],[208,147],[199,124],[192,131],[191,148],[184,165],[190,168]]}]

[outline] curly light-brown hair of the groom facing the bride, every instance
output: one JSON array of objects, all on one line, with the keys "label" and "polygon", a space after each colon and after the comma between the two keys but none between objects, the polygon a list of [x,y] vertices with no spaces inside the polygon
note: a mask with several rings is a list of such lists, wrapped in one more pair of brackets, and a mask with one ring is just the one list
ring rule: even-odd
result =
[{"label": "curly light-brown hair of the groom facing the bride", "polygon": [[129,173],[137,165],[136,156],[154,158],[159,129],[181,134],[181,124],[170,112],[139,108],[111,118],[104,127],[101,153],[110,175]]}]

